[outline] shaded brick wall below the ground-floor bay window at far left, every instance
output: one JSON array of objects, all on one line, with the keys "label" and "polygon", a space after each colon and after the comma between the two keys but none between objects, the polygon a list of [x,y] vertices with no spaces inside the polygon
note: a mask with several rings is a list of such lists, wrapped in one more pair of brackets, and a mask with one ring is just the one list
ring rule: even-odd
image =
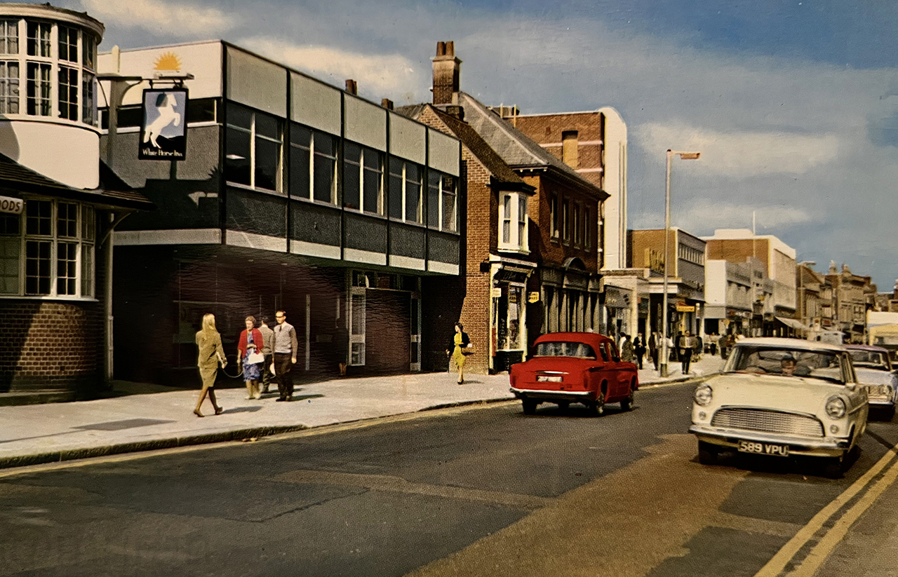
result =
[{"label": "shaded brick wall below the ground-floor bay window at far left", "polygon": [[100,386],[100,302],[0,301],[0,331],[0,391]]}]

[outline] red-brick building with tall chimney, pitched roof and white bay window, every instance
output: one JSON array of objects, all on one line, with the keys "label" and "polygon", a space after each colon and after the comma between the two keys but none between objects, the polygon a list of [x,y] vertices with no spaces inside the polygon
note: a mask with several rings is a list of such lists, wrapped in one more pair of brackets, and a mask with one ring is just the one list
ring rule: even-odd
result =
[{"label": "red-brick building with tall chimney, pitched roof and white bay window", "polygon": [[489,336],[486,363],[471,361],[502,371],[522,360],[541,333],[598,328],[596,223],[607,194],[462,92],[453,42],[438,43],[433,62],[432,105],[403,110],[459,136],[467,151],[460,318],[472,339]]}]

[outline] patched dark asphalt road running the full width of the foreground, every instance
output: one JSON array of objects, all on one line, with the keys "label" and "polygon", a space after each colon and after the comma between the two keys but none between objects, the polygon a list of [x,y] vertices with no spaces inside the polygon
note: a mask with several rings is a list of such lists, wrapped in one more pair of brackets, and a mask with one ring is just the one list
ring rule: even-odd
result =
[{"label": "patched dark asphalt road running the full width of the foreground", "polygon": [[[691,390],[599,418],[501,403],[4,471],[0,575],[835,575],[865,554],[836,529],[892,470],[898,424],[871,424],[840,479],[705,467]],[[865,535],[894,529],[870,511]]]}]

